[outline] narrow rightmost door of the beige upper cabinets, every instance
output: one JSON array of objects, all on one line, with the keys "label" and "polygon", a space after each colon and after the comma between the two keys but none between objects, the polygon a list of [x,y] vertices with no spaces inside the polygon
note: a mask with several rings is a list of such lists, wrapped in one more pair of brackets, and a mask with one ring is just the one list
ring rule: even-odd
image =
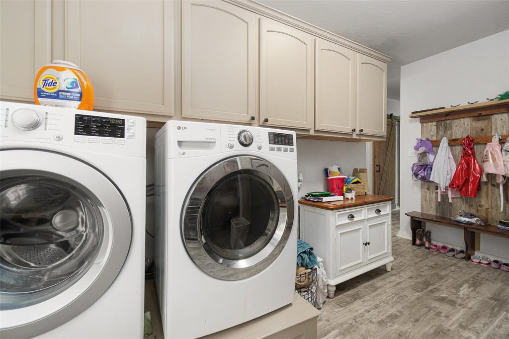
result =
[{"label": "narrow rightmost door of the beige upper cabinets", "polygon": [[357,132],[386,133],[387,64],[357,53]]}]

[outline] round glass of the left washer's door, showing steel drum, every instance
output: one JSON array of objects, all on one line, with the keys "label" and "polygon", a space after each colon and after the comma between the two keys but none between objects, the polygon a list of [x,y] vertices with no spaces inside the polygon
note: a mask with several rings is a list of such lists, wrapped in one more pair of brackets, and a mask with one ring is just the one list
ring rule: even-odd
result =
[{"label": "round glass of the left washer's door, showing steel drum", "polygon": [[94,263],[101,213],[86,192],[55,178],[7,177],[0,187],[0,309],[36,304]]}]

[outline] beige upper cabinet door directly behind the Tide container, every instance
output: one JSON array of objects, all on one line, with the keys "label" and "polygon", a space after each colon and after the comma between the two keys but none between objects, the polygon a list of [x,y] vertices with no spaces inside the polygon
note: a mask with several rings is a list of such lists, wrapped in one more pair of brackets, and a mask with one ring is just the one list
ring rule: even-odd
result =
[{"label": "beige upper cabinet door directly behind the Tide container", "polygon": [[66,58],[89,75],[97,109],[174,115],[174,5],[66,2]]}]

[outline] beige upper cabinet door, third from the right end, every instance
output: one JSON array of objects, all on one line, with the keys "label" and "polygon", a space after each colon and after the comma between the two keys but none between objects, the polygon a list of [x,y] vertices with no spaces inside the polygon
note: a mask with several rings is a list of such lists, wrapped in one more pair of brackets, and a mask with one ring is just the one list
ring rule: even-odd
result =
[{"label": "beige upper cabinet door, third from the right end", "polygon": [[266,18],[260,31],[261,125],[312,129],[315,38]]}]

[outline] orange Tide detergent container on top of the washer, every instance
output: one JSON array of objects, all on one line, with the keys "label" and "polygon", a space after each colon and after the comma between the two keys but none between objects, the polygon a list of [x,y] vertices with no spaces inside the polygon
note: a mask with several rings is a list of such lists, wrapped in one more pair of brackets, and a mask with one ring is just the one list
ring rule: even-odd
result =
[{"label": "orange Tide detergent container on top of the washer", "polygon": [[64,60],[53,60],[37,73],[34,98],[37,105],[94,109],[92,81],[77,65]]}]

